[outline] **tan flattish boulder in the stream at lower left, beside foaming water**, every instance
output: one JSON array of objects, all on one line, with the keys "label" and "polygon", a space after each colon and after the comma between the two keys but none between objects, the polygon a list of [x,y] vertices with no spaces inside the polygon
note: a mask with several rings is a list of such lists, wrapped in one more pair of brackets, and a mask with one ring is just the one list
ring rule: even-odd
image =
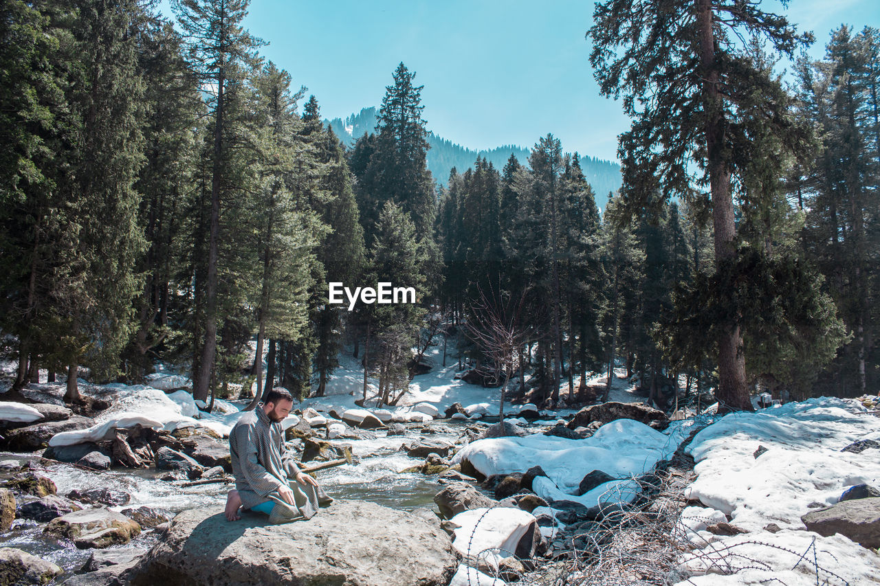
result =
[{"label": "tan flattish boulder in the stream at lower left, beside foaming water", "polygon": [[71,539],[79,549],[87,549],[128,543],[140,535],[141,526],[109,509],[85,509],[53,519],[43,531],[55,538]]}]

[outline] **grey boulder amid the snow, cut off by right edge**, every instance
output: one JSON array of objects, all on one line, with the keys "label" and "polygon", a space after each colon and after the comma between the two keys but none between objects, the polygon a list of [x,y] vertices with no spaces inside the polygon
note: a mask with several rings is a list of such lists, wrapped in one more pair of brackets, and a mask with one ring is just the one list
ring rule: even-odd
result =
[{"label": "grey boulder amid the snow, cut off by right edge", "polygon": [[880,547],[880,498],[838,502],[801,517],[810,531],[830,536],[840,533],[862,546]]}]

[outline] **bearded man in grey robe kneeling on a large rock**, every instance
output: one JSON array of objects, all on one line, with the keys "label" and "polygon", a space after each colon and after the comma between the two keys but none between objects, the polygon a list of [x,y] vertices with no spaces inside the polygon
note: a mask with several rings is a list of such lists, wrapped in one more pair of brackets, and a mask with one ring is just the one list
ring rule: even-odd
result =
[{"label": "bearded man in grey robe kneeling on a large rock", "polygon": [[226,498],[226,518],[241,518],[244,507],[269,516],[270,523],[308,519],[319,505],[333,502],[311,476],[301,472],[284,446],[281,421],[293,398],[285,389],[266,393],[263,402],[238,419],[229,434],[235,490]]}]

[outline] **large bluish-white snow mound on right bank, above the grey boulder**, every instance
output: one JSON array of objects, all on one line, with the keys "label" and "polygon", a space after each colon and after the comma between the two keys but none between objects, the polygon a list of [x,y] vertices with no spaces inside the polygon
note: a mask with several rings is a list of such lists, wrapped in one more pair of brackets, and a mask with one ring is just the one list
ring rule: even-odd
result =
[{"label": "large bluish-white snow mound on right bank, above the grey boulder", "polygon": [[[750,531],[768,523],[802,527],[810,503],[832,505],[847,488],[880,480],[880,460],[840,451],[856,440],[880,439],[880,419],[849,407],[823,398],[726,415],[687,447],[699,476],[686,498]],[[759,446],[766,451],[756,458]]]}]

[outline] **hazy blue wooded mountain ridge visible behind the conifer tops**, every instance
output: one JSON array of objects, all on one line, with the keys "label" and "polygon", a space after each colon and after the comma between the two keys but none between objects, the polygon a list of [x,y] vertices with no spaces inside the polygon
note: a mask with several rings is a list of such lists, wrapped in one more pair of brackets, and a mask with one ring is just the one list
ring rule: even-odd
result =
[{"label": "hazy blue wooded mountain ridge visible behind the conifer tops", "polygon": [[[369,107],[363,108],[357,114],[351,114],[345,120],[334,118],[325,120],[324,123],[333,128],[336,136],[339,136],[343,143],[352,146],[364,133],[375,132],[377,119],[378,108]],[[485,157],[499,171],[504,168],[511,153],[516,155],[521,164],[529,163],[530,150],[515,144],[505,144],[491,150],[471,150],[436,136],[433,132],[428,135],[428,143],[431,145],[428,151],[428,169],[441,185],[446,185],[452,167],[458,172],[465,172],[473,167],[477,157]],[[605,209],[609,192],[620,188],[620,165],[613,161],[585,156],[581,157],[581,168],[596,193],[596,204],[599,209]]]}]

